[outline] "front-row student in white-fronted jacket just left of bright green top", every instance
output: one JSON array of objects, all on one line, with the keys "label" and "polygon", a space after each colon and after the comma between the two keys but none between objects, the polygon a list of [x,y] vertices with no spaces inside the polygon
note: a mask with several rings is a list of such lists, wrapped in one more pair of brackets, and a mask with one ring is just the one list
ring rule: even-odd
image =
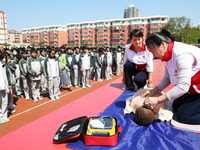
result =
[{"label": "front-row student in white-fronted jacket just left of bright green top", "polygon": [[59,99],[59,84],[61,69],[59,59],[55,57],[56,50],[49,50],[48,57],[44,61],[45,76],[49,86],[49,97],[52,101]]}]

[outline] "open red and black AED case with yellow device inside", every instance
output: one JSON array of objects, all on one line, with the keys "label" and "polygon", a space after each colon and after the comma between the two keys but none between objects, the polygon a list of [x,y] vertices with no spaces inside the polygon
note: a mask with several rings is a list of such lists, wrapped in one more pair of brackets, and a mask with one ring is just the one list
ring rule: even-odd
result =
[{"label": "open red and black AED case with yellow device inside", "polygon": [[85,145],[115,146],[121,132],[115,117],[83,116],[63,123],[54,135],[53,143],[70,142],[81,137]]}]

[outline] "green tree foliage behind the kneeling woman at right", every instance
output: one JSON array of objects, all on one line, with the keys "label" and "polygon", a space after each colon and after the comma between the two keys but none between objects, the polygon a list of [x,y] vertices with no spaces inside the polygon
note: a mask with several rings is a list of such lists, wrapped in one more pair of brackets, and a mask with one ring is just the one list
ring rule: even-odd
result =
[{"label": "green tree foliage behind the kneeling woman at right", "polygon": [[186,17],[172,17],[163,28],[180,42],[198,44],[200,40],[200,29],[192,27],[190,19]]}]

